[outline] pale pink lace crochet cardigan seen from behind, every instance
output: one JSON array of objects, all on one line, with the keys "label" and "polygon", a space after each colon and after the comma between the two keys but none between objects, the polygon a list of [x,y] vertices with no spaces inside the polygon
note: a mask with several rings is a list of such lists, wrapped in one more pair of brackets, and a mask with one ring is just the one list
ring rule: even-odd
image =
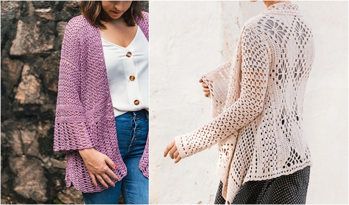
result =
[{"label": "pale pink lace crochet cardigan seen from behind", "polygon": [[185,158],[218,143],[226,203],[247,181],[311,166],[302,113],[314,50],[298,6],[276,3],[245,23],[231,60],[202,76],[214,119],[176,146]]}]

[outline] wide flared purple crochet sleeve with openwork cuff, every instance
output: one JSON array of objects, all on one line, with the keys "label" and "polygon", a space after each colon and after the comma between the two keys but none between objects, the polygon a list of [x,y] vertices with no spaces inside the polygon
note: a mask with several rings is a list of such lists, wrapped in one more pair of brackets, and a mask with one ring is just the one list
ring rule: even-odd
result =
[{"label": "wide flared purple crochet sleeve with openwork cuff", "polygon": [[58,96],[54,126],[54,151],[70,152],[93,147],[81,92],[81,30],[70,20],[62,42]]}]

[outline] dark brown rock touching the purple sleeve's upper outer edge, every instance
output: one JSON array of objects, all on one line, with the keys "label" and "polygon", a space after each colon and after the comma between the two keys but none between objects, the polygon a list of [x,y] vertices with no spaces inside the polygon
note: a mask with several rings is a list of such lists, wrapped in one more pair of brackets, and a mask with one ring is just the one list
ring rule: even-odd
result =
[{"label": "dark brown rock touching the purple sleeve's upper outer edge", "polygon": [[58,77],[59,77],[59,63],[61,60],[61,52],[55,51],[51,56],[44,60],[42,68],[47,81],[49,90],[57,92],[58,89]]}]

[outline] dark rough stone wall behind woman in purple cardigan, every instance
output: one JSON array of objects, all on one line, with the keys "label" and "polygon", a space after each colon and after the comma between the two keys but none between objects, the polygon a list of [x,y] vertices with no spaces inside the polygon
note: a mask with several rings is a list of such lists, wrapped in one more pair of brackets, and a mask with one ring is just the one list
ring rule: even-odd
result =
[{"label": "dark rough stone wall behind woman in purple cardigan", "polygon": [[84,203],[52,150],[60,49],[77,15],[79,1],[1,1],[1,204]]}]

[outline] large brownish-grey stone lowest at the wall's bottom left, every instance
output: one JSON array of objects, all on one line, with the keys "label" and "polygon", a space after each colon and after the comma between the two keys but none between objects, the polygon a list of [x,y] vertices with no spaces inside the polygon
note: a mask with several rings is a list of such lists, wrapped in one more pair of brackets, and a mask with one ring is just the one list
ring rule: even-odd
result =
[{"label": "large brownish-grey stone lowest at the wall's bottom left", "polygon": [[47,179],[38,159],[11,156],[9,166],[16,174],[13,184],[16,193],[37,202],[48,200],[46,197]]}]

